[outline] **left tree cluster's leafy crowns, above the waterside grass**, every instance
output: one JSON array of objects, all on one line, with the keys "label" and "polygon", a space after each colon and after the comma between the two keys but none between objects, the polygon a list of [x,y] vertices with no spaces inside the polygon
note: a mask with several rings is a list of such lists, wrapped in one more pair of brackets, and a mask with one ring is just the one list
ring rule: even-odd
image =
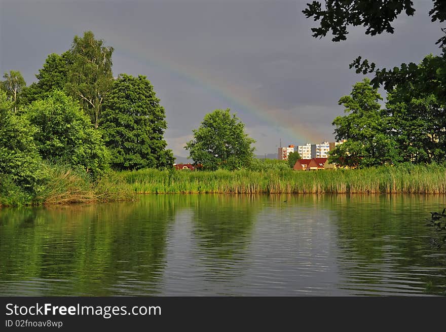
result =
[{"label": "left tree cluster's leafy crowns, above the waterside grass", "polygon": [[153,86],[145,76],[114,79],[113,51],[86,31],[74,37],[66,52],[48,55],[38,81],[30,86],[25,87],[20,72],[5,74],[2,90],[13,109],[20,99],[24,121],[36,128],[32,137],[44,160],[93,173],[107,168],[110,155],[116,169],[172,165],[163,137],[165,112]]}]

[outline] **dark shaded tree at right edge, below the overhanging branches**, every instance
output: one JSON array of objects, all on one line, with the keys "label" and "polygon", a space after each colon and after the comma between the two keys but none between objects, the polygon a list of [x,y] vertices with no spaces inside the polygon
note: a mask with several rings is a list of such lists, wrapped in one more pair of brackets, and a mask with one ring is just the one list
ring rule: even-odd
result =
[{"label": "dark shaded tree at right edge, below the overhanging branches", "polygon": [[[446,100],[444,86],[430,83],[435,76],[437,57],[428,55],[417,66],[424,79],[401,82],[387,94],[387,117],[392,130],[390,134],[398,143],[405,161],[416,163],[442,162],[446,159]],[[438,69],[438,68],[437,68]],[[427,74],[427,75],[426,75]],[[416,81],[431,85],[426,89]]]}]

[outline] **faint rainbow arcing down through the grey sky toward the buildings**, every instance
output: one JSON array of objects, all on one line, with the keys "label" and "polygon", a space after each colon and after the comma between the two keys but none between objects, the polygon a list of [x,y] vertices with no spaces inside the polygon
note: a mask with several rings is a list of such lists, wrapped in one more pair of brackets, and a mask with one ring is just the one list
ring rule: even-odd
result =
[{"label": "faint rainbow arcing down through the grey sky toward the buildings", "polygon": [[[32,19],[35,20],[36,18],[34,17]],[[50,24],[49,22],[40,23]],[[60,21],[58,23],[65,28],[71,29],[73,35],[82,35],[83,33],[83,31],[78,31],[79,29],[75,26],[69,26],[67,22]],[[103,30],[99,26],[89,26],[85,29],[91,29],[92,31]],[[268,126],[271,126],[273,130],[277,130],[280,134],[283,134],[283,138],[290,139],[289,143],[319,142],[324,138],[317,129],[303,123],[299,118],[299,112],[296,112],[296,110],[290,111],[271,107],[263,101],[256,100],[246,88],[224,82],[223,80],[216,80],[208,72],[200,68],[181,64],[173,59],[169,59],[168,55],[166,55],[167,52],[161,52],[158,48],[145,48],[143,44],[135,43],[128,35],[120,35],[119,31],[113,31],[112,38],[104,37],[104,34],[110,35],[110,31],[106,33],[101,32],[96,32],[96,37],[104,39],[105,45],[112,45],[121,54],[148,66],[158,68],[185,82],[199,86],[226,103],[225,107],[216,105],[215,108],[231,108],[233,112],[236,111],[239,114],[250,114],[265,122]],[[126,52],[126,50],[132,50],[132,52]],[[150,79],[150,77],[148,78]],[[212,110],[209,109],[208,112]],[[284,142],[286,145],[286,139]]]}]

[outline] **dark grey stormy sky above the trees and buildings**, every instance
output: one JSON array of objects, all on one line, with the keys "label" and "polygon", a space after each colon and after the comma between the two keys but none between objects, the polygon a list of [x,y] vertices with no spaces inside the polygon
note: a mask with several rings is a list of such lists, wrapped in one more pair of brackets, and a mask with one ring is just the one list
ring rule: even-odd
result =
[{"label": "dark grey stormy sky above the trees and buildings", "polygon": [[20,70],[27,82],[50,53],[92,30],[113,46],[113,71],[146,75],[166,110],[165,137],[183,150],[205,114],[231,108],[257,141],[256,153],[283,144],[333,140],[338,105],[362,76],[348,65],[358,55],[379,66],[419,62],[441,36],[431,0],[415,0],[394,34],[348,41],[311,37],[316,23],[305,1],[284,0],[0,0],[0,72]]}]

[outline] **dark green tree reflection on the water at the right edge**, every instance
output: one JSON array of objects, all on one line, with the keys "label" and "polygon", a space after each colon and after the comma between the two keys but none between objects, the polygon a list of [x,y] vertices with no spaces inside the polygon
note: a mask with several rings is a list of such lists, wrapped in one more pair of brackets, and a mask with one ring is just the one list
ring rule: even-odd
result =
[{"label": "dark green tree reflection on the water at the right edge", "polygon": [[329,196],[342,287],[357,294],[445,294],[445,251],[432,245],[438,234],[425,222],[444,202],[439,195]]}]

